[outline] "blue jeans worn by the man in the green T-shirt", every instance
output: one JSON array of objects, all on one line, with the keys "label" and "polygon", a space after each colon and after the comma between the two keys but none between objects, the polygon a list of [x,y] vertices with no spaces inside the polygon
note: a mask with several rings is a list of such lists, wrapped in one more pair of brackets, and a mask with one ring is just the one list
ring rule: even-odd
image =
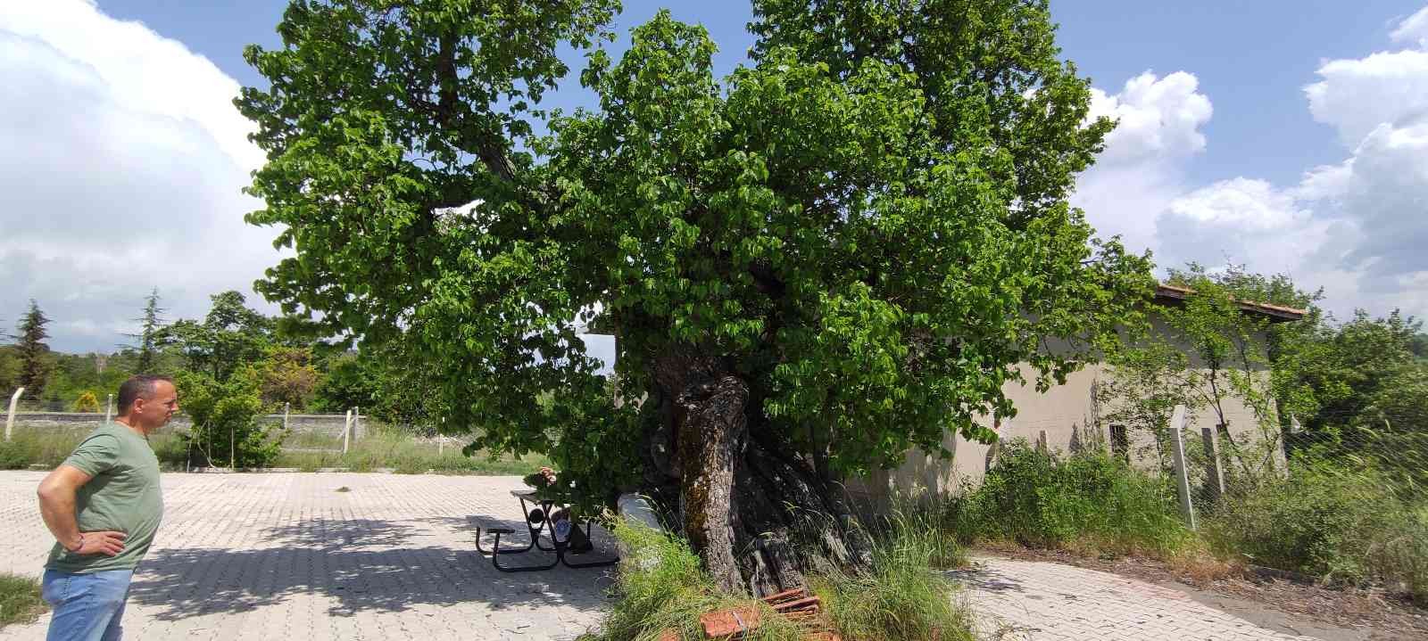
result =
[{"label": "blue jeans worn by the man in the green T-shirt", "polygon": [[44,571],[41,594],[54,608],[46,641],[119,641],[133,570],[70,574]]}]

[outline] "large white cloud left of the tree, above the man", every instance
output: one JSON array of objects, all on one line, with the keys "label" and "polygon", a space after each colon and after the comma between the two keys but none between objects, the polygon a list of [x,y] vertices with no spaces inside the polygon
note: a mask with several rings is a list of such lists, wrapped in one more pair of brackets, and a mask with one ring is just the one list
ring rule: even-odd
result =
[{"label": "large white cloud left of the tree, above the man", "polygon": [[53,347],[107,350],[150,288],[170,317],[198,317],[278,260],[274,233],[243,223],[263,156],[238,83],[203,56],[90,1],[17,3],[0,13],[0,77],[7,324],[36,298]]}]

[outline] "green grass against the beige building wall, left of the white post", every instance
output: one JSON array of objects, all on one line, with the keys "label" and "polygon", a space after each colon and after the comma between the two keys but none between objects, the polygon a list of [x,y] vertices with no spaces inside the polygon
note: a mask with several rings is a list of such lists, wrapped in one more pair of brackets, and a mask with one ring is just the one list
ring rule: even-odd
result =
[{"label": "green grass against the beige building wall, left of the white post", "polygon": [[1101,453],[1061,457],[1008,443],[981,485],[947,504],[958,541],[1015,541],[1167,558],[1194,542],[1174,488]]}]

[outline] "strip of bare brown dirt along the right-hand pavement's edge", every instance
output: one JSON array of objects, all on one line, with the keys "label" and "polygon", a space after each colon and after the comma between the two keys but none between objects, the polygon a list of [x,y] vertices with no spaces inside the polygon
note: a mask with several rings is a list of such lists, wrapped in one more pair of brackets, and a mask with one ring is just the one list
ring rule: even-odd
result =
[{"label": "strip of bare brown dirt along the right-hand pavement's edge", "polygon": [[1428,610],[1374,588],[1325,587],[1254,574],[1222,565],[1217,571],[1175,568],[1140,557],[1087,557],[1012,544],[980,551],[1028,561],[1050,561],[1137,578],[1180,590],[1191,598],[1257,625],[1328,641],[1428,640]]}]

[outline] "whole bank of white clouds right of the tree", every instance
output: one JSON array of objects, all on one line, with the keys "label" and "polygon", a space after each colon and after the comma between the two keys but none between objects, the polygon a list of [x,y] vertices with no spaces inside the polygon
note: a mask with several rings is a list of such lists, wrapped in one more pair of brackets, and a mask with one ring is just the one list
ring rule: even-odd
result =
[{"label": "whole bank of white clouds right of the tree", "polygon": [[1305,86],[1311,114],[1334,128],[1345,158],[1289,186],[1252,177],[1187,184],[1212,114],[1190,73],[1147,73],[1114,96],[1095,91],[1092,113],[1120,117],[1121,127],[1074,203],[1102,236],[1151,248],[1162,267],[1245,263],[1325,287],[1341,317],[1355,307],[1428,316],[1428,9],[1392,39],[1409,49],[1325,61]]}]

